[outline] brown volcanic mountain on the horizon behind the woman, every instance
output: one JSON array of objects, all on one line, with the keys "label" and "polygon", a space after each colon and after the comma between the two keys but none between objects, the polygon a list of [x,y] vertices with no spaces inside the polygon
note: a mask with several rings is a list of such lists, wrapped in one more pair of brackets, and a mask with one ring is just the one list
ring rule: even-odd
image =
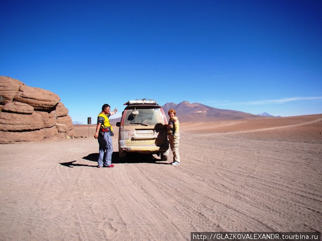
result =
[{"label": "brown volcanic mountain on the horizon behind the woman", "polygon": [[182,101],[179,104],[166,103],[162,108],[165,113],[168,113],[169,109],[175,109],[181,122],[223,121],[259,117],[258,115],[237,110],[218,109],[205,104],[190,103],[188,101]]}]

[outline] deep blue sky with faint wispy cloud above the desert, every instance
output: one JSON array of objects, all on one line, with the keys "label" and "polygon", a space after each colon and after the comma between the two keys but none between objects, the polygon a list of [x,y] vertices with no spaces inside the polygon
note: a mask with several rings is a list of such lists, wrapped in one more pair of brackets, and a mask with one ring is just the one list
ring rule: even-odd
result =
[{"label": "deep blue sky with faint wispy cloud above the desert", "polygon": [[322,113],[320,0],[13,0],[0,9],[0,75],[58,94],[73,121],[144,97]]}]

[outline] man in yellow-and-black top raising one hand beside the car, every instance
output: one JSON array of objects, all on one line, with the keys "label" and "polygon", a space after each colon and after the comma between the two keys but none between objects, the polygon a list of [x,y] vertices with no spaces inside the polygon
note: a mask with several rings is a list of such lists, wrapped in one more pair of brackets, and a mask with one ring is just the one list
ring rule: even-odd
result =
[{"label": "man in yellow-and-black top raising one hand beside the car", "polygon": [[[95,139],[98,139],[99,142],[99,159],[98,159],[98,168],[103,167],[103,159],[104,159],[104,167],[114,167],[112,162],[112,154],[113,154],[113,144],[112,144],[112,126],[110,124],[109,117],[112,114],[115,114],[117,109],[114,111],[110,111],[111,106],[108,104],[103,104],[102,112],[97,116],[97,127],[96,133],[94,135]],[[105,154],[105,158],[104,158]]]}]

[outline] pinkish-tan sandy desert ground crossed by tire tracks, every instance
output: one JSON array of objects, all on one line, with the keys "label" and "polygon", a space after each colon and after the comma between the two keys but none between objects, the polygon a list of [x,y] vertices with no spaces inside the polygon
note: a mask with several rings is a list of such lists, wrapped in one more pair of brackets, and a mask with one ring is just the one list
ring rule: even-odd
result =
[{"label": "pinkish-tan sandy desert ground crossed by tire tracks", "polygon": [[98,169],[94,129],[90,138],[0,146],[0,240],[322,230],[322,114],[182,123],[180,166],[120,163],[115,135],[115,168]]}]

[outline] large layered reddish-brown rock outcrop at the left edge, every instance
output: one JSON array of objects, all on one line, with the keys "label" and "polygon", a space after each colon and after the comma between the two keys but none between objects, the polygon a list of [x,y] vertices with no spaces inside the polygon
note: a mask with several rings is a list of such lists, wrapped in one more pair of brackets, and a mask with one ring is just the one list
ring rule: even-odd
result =
[{"label": "large layered reddish-brown rock outcrop at the left edge", "polygon": [[73,136],[68,109],[57,94],[0,76],[0,143]]}]

